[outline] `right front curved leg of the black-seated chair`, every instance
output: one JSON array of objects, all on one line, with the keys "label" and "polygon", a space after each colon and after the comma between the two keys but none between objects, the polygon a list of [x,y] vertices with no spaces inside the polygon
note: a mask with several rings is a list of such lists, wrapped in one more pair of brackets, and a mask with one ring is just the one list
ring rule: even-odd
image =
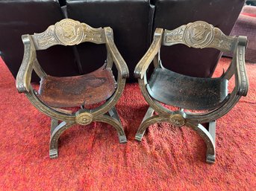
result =
[{"label": "right front curved leg of the black-seated chair", "polygon": [[215,162],[215,121],[210,122],[209,132],[201,124],[187,123],[187,126],[190,126],[195,130],[203,140],[205,140],[207,151],[206,151],[206,162],[208,164],[213,164]]}]

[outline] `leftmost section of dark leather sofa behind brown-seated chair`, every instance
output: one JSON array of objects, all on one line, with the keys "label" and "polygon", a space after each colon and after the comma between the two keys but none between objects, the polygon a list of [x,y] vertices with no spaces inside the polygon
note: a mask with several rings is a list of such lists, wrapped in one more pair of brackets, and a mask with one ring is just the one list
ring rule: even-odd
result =
[{"label": "leftmost section of dark leather sofa behind brown-seated chair", "polygon": [[[49,25],[63,19],[57,1],[0,1],[0,51],[1,57],[13,77],[22,63],[22,34],[41,33]],[[54,76],[77,75],[71,47],[54,46],[46,51],[37,51],[37,59],[43,69]],[[33,75],[32,81],[38,81]]]}]

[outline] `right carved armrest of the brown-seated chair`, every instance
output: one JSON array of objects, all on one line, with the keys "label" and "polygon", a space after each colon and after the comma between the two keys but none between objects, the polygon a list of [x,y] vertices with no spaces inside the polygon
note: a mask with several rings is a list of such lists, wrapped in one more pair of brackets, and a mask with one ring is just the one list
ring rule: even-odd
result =
[{"label": "right carved armrest of the brown-seated chair", "polygon": [[110,51],[110,54],[113,58],[113,62],[115,63],[119,74],[121,74],[122,78],[128,78],[128,66],[126,65],[125,60],[122,58],[121,54],[116,48],[115,43],[113,42],[113,30],[110,27],[104,27],[104,33],[106,37],[107,49],[108,51]]}]

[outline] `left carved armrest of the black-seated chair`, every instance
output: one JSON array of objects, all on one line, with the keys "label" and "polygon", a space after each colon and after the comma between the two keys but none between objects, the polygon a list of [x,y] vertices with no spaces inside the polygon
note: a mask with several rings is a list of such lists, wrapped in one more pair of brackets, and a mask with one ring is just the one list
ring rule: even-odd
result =
[{"label": "left carved armrest of the black-seated chair", "polygon": [[140,59],[140,62],[137,63],[135,70],[134,70],[134,77],[136,78],[143,78],[146,70],[149,68],[150,63],[154,59],[154,56],[159,52],[160,46],[162,44],[162,36],[163,36],[163,29],[156,28],[154,31],[154,39],[152,45],[149,47],[149,50]]}]

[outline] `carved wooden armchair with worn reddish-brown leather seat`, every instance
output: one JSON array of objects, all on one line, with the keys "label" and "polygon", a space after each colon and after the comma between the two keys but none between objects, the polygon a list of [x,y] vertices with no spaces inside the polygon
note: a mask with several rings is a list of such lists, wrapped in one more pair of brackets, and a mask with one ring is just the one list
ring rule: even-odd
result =
[{"label": "carved wooden armchair with worn reddish-brown leather seat", "polygon": [[[119,142],[127,142],[115,105],[125,88],[129,73],[113,42],[113,30],[110,27],[93,28],[72,19],[63,19],[43,33],[23,35],[22,41],[25,50],[16,77],[16,88],[19,93],[25,93],[39,111],[51,117],[50,158],[57,158],[60,135],[75,124],[85,126],[93,121],[108,123],[116,129]],[[107,59],[102,68],[81,76],[51,77],[40,67],[36,51],[53,45],[78,45],[81,42],[106,45]],[[118,71],[117,83],[111,70],[113,63]],[[33,70],[41,79],[38,91],[31,86]],[[98,107],[93,109],[84,107],[95,104]],[[72,112],[69,108],[75,106],[81,106],[81,109]]]}]

